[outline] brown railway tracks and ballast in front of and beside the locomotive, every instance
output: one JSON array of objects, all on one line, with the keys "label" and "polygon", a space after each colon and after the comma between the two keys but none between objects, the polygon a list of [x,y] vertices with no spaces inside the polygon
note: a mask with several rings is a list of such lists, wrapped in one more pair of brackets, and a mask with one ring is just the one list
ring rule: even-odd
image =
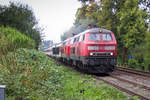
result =
[{"label": "brown railway tracks and ballast in front of and beside the locomotive", "polygon": [[136,71],[129,68],[117,68],[109,76],[93,75],[131,96],[138,96],[140,100],[150,100],[150,73]]}]

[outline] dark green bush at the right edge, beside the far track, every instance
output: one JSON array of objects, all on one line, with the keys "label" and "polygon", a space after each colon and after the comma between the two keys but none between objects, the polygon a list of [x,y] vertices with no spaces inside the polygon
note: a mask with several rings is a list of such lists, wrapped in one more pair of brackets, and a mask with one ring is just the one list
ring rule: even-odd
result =
[{"label": "dark green bush at the right edge, beside the far track", "polygon": [[146,33],[145,42],[130,50],[133,59],[128,60],[128,66],[134,69],[150,71],[150,32]]}]

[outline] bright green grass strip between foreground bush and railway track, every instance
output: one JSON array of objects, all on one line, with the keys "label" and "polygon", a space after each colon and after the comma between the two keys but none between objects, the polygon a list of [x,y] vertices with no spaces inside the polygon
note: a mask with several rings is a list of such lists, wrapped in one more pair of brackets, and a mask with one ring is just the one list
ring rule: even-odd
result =
[{"label": "bright green grass strip between foreground bush and railway track", "polygon": [[[62,67],[62,66],[61,66]],[[83,75],[62,67],[64,77],[62,89],[58,92],[58,100],[137,100],[137,97],[129,98],[121,91],[97,81],[90,75]]]}]

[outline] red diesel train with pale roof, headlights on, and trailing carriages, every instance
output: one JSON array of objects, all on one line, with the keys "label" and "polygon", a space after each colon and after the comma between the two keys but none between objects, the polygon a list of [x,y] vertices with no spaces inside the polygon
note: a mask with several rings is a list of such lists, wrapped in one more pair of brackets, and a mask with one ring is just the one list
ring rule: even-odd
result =
[{"label": "red diesel train with pale roof, headlights on, and trailing carriages", "polygon": [[116,65],[117,42],[106,29],[88,29],[52,49],[51,56],[90,73],[109,73]]}]

